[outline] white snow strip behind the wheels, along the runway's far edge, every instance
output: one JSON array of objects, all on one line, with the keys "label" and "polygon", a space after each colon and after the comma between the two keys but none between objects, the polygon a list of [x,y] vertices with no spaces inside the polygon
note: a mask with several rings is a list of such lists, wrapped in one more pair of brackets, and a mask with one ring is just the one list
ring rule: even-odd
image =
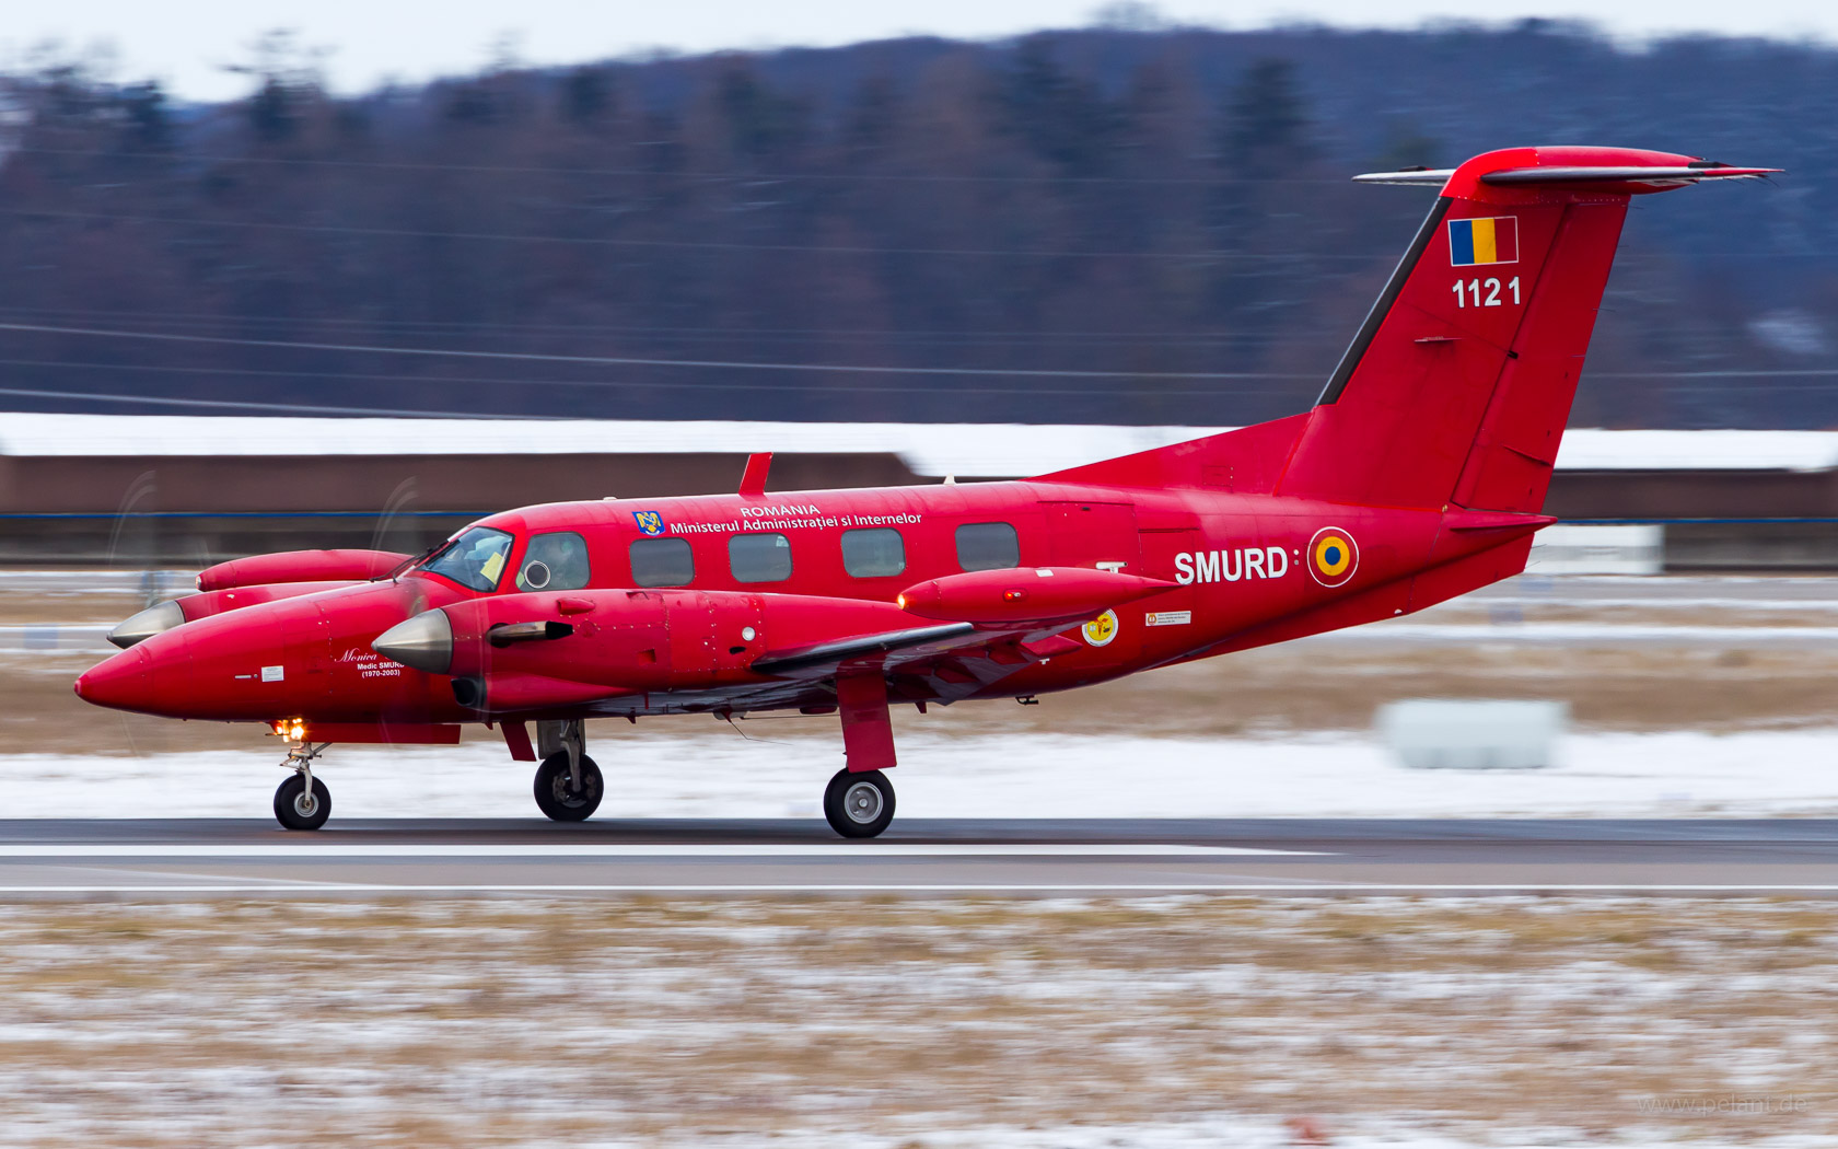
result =
[{"label": "white snow strip behind the wheels, along the runway's far edge", "polygon": [[[748,724],[774,739],[772,722]],[[597,735],[597,737],[596,737]],[[590,728],[603,818],[818,818],[838,739]],[[0,818],[263,816],[283,772],[248,752],[0,756]],[[1573,734],[1542,770],[1410,770],[1371,739],[902,737],[902,818],[1838,814],[1838,728]],[[537,816],[502,745],[335,746],[335,818]]]}]

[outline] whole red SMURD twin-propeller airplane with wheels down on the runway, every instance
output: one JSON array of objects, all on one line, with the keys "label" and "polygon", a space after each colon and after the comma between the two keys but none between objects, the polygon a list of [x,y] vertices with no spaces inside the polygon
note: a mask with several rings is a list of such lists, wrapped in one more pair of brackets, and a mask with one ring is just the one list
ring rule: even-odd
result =
[{"label": "whole red SMURD twin-propeller airplane with wheels down on the runway", "polygon": [[[544,814],[605,781],[583,719],[840,713],[823,813],[893,820],[891,706],[1035,695],[1423,610],[1518,574],[1628,197],[1776,169],[1520,147],[1452,171],[1305,414],[1026,482],[566,502],[419,557],[211,566],[121,623],[99,706],[265,722],[289,829],[331,813],[333,743],[496,726]],[[535,724],[535,745],[529,726]]]}]

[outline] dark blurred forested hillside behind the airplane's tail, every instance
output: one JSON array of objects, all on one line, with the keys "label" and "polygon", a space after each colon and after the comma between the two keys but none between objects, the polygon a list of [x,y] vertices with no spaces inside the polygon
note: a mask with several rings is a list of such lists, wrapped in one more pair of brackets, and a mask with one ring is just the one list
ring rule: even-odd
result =
[{"label": "dark blurred forested hillside behind the airplane's tail", "polygon": [[1638,204],[1571,421],[1838,427],[1831,50],[1094,28],[355,99],[305,61],[219,107],[0,81],[0,322],[57,329],[0,331],[0,406],[1246,423],[1428,208],[1349,175],[1588,142],[1790,175]]}]

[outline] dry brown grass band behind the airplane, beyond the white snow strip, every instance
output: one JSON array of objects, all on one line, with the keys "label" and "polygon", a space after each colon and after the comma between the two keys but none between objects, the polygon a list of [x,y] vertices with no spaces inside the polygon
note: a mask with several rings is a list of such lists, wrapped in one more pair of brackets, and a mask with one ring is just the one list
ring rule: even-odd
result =
[{"label": "dry brown grass band behind the airplane, beyond the white snow strip", "polygon": [[[130,594],[0,594],[0,616],[22,621],[118,621],[138,609]],[[1417,621],[1476,623],[1491,616],[1483,599],[1450,603]],[[1577,607],[1524,609],[1526,621],[1671,621],[1719,625],[1838,625],[1818,610],[1720,610],[1704,620],[1680,609]],[[255,726],[171,722],[97,711],[70,689],[72,680],[110,647],[97,640],[81,653],[0,656],[0,746],[11,752],[153,754],[176,750],[272,748]],[[1467,645],[1333,643],[1277,645],[1167,667],[1062,695],[1038,706],[1013,700],[899,710],[902,730],[978,735],[1040,730],[1059,734],[1163,734],[1184,737],[1366,730],[1390,700],[1421,697],[1557,699],[1577,722],[1597,730],[1741,730],[1829,726],[1838,647],[1776,647],[1739,636],[1717,647],[1680,643],[1616,647],[1533,645],[1498,638]],[[766,726],[761,726],[766,730]],[[829,735],[834,719],[777,719],[770,730]],[[645,737],[706,734],[706,719],[652,721]],[[494,737],[474,732],[472,737]]]}]

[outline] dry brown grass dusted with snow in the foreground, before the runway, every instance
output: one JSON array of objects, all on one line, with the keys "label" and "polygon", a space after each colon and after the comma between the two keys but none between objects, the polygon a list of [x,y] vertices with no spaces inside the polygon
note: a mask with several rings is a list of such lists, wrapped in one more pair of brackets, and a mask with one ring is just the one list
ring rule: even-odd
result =
[{"label": "dry brown grass dusted with snow in the foreground, before the runway", "polygon": [[[1823,903],[28,904],[0,945],[6,1143],[1838,1136]],[[1807,1109],[1641,1112],[1730,1094]]]}]

